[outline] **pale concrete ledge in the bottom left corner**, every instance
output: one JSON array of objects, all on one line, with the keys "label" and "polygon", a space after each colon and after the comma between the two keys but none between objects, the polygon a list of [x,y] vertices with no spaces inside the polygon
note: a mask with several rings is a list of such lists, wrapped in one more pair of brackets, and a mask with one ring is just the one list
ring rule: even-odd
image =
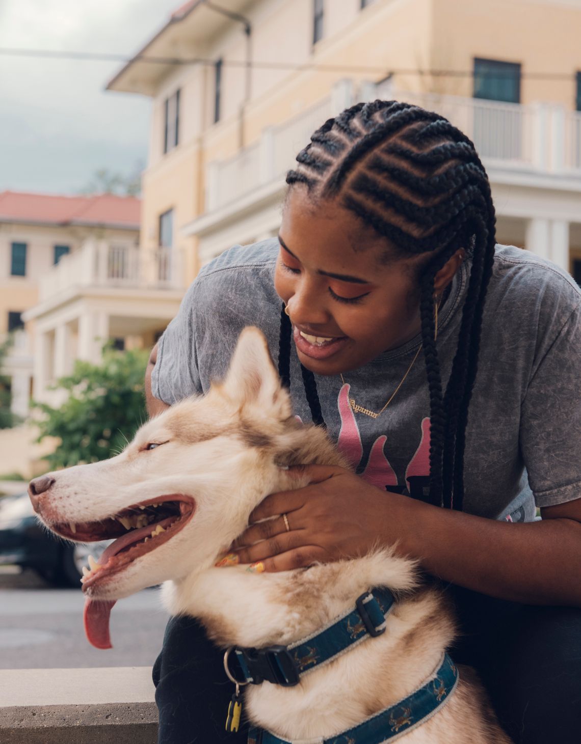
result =
[{"label": "pale concrete ledge in the bottom left corner", "polygon": [[150,667],[0,670],[2,744],[156,744]]}]

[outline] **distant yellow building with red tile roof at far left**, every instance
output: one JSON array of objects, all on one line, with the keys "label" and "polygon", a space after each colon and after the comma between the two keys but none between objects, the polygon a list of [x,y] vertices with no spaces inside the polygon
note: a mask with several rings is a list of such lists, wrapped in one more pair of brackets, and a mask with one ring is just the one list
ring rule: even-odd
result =
[{"label": "distant yellow building with red tile roof at far left", "polygon": [[[118,251],[137,251],[140,211],[134,197],[0,193],[0,340],[13,332],[4,373],[11,378],[15,414],[28,414],[33,394],[33,318],[39,311],[32,309],[42,307],[49,292],[62,300],[57,277],[71,273],[88,243],[104,241]],[[25,321],[30,321],[26,331]],[[53,360],[47,361],[54,370]]]}]

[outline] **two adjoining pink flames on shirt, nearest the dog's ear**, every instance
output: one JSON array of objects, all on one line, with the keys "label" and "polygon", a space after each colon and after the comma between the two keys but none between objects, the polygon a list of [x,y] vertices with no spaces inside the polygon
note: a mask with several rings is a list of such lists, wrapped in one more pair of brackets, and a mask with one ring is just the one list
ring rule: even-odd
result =
[{"label": "two adjoining pink flames on shirt, nearest the dog's ear", "polygon": [[[339,397],[337,398],[337,406],[341,418],[341,429],[337,440],[337,447],[339,452],[345,455],[352,466],[357,467],[363,457],[363,443],[357,421],[355,421],[355,413],[351,405],[349,405],[349,388],[350,385],[345,383],[340,389]],[[381,437],[375,440],[369,453],[369,461],[367,461],[365,470],[361,473],[361,478],[378,488],[396,486],[398,483],[396,473],[385,456],[384,445],[386,442],[387,437],[385,434],[382,434]]]}]

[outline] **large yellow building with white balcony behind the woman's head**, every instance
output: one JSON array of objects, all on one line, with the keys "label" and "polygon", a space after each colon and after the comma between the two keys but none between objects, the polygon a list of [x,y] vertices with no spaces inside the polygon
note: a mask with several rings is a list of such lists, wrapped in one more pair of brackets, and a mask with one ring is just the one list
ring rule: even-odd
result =
[{"label": "large yellow building with white balcony behind the woman's head", "polygon": [[501,242],[581,273],[580,28],[571,0],[185,3],[108,86],[153,100],[142,248],[173,234],[191,280],[276,234],[311,132],[358,100],[399,98],[474,139]]}]

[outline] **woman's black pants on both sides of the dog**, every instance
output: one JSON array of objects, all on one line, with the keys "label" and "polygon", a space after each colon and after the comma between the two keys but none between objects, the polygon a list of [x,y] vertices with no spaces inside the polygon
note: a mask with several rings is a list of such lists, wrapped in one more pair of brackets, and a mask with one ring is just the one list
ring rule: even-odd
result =
[{"label": "woman's black pants on both sides of the dog", "polygon": [[[579,744],[581,610],[518,605],[455,586],[447,591],[460,621],[451,656],[477,669],[515,743]],[[159,744],[246,744],[246,726],[238,734],[224,731],[234,685],[222,657],[196,620],[169,621],[153,667]]]}]

